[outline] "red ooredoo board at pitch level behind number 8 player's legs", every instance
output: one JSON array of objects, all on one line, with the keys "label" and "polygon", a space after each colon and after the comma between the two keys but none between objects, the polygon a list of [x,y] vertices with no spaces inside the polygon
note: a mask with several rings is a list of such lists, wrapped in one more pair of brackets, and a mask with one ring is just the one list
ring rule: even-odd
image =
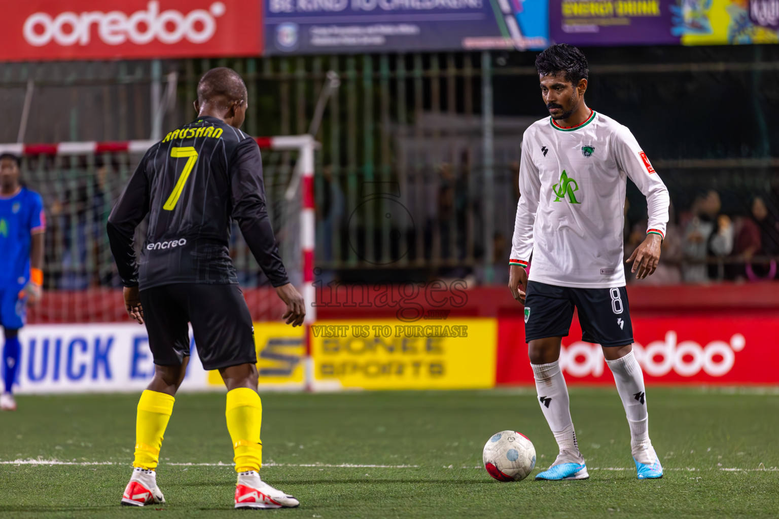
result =
[{"label": "red ooredoo board at pitch level behind number 8 player's legs", "polygon": [[[636,358],[647,384],[779,383],[779,315],[680,314],[633,317]],[[533,384],[523,317],[498,321],[498,384]],[[601,346],[581,341],[577,318],[562,339],[560,363],[569,384],[613,384]]]}]

